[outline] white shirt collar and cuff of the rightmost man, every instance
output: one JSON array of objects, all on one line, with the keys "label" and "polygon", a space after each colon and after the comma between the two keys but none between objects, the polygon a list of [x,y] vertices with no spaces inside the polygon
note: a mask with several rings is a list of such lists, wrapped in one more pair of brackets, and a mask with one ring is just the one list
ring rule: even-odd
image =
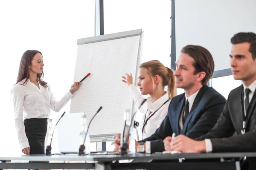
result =
[{"label": "white shirt collar and cuff of the rightmost man", "polygon": [[[250,103],[250,101],[252,100],[252,98],[253,98],[253,94],[254,94],[254,91],[255,91],[255,89],[256,89],[256,80],[252,83],[252,84],[250,84],[248,87],[246,87],[245,85],[244,85],[244,83],[243,83],[243,86],[244,86],[244,102],[245,102],[245,89],[246,88],[249,88],[250,89],[250,94],[249,94],[249,103]],[[245,105],[245,104],[244,104]],[[245,110],[245,107],[244,107],[244,116],[246,116],[246,110]],[[212,142],[211,142],[211,139],[204,139],[204,141],[205,141],[205,150],[206,150],[206,152],[207,153],[209,153],[209,152],[212,152]]]}]

